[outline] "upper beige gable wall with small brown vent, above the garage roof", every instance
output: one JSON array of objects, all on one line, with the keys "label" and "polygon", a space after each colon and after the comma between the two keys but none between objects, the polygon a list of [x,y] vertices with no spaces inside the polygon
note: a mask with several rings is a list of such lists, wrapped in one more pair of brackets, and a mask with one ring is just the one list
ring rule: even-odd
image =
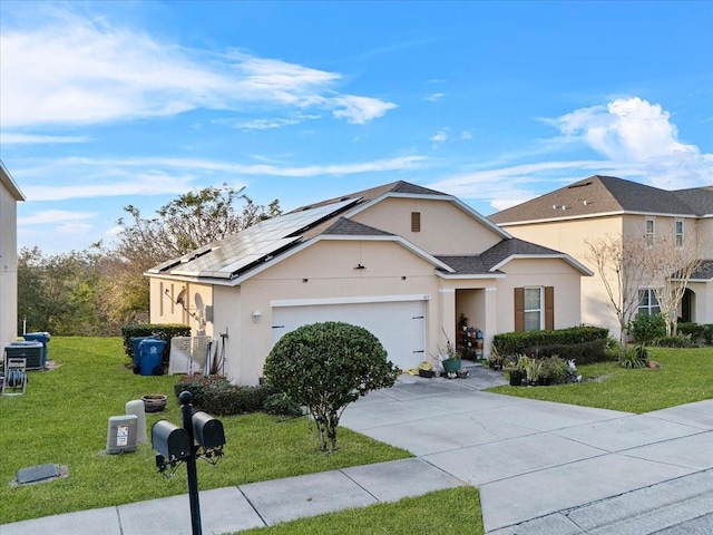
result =
[{"label": "upper beige gable wall with small brown vent, above the garage roof", "polygon": [[[411,212],[421,214],[421,232],[411,232]],[[472,215],[443,201],[388,198],[351,218],[403,236],[433,255],[481,253],[502,240]]]}]

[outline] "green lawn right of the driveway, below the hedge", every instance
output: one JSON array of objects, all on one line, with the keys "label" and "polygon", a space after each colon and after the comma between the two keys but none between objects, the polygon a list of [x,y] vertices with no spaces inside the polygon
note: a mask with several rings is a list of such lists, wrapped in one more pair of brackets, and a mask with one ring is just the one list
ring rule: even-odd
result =
[{"label": "green lawn right of the driveway, below the hedge", "polygon": [[617,362],[577,367],[582,383],[495,387],[489,392],[643,414],[713,398],[713,348],[649,348],[655,369],[625,369]]}]

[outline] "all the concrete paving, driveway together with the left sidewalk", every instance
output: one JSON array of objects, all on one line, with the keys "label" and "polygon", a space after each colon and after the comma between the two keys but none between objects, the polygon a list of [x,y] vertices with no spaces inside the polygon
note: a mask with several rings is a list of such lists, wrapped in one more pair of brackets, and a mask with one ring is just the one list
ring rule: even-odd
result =
[{"label": "all the concrete paving, driveway together with the left sidewalk", "polygon": [[[203,533],[476,485],[492,535],[713,531],[713,400],[647,415],[482,392],[500,373],[402,377],[342,425],[417,457],[201,493]],[[187,495],[0,526],[0,535],[191,534]],[[468,533],[468,526],[463,526]]]}]

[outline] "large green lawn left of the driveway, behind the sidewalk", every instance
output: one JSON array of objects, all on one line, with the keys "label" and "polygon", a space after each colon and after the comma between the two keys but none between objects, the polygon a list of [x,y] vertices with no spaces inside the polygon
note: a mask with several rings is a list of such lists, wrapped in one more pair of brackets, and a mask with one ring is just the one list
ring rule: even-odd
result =
[{"label": "large green lawn left of the driveway, behind the sidewalk", "polygon": [[[48,359],[58,368],[29,372],[25,396],[0,398],[0,524],[187,493],[185,468],[173,479],[158,475],[149,445],[134,454],[102,453],[108,418],[145,393],[169,400],[163,412],[146,415],[149,430],[158,419],[180,426],[176,377],[134,374],[119,338],[56,337]],[[305,418],[221,420],[226,455],[217,466],[198,463],[203,490],[410,457],[346,428],[339,430],[340,449],[322,454]],[[11,488],[17,470],[42,464],[66,466],[69,477]]]}]

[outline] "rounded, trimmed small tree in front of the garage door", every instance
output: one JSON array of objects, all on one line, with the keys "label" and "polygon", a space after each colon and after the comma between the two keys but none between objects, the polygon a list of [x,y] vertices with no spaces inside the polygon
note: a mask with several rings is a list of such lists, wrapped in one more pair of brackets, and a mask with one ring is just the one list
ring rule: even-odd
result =
[{"label": "rounded, trimmed small tree in front of the garage door", "polygon": [[316,422],[322,451],[336,449],[336,427],[349,403],[370,390],[393,386],[397,368],[367,329],[328,321],[303,325],[280,339],[265,361],[268,383]]}]

